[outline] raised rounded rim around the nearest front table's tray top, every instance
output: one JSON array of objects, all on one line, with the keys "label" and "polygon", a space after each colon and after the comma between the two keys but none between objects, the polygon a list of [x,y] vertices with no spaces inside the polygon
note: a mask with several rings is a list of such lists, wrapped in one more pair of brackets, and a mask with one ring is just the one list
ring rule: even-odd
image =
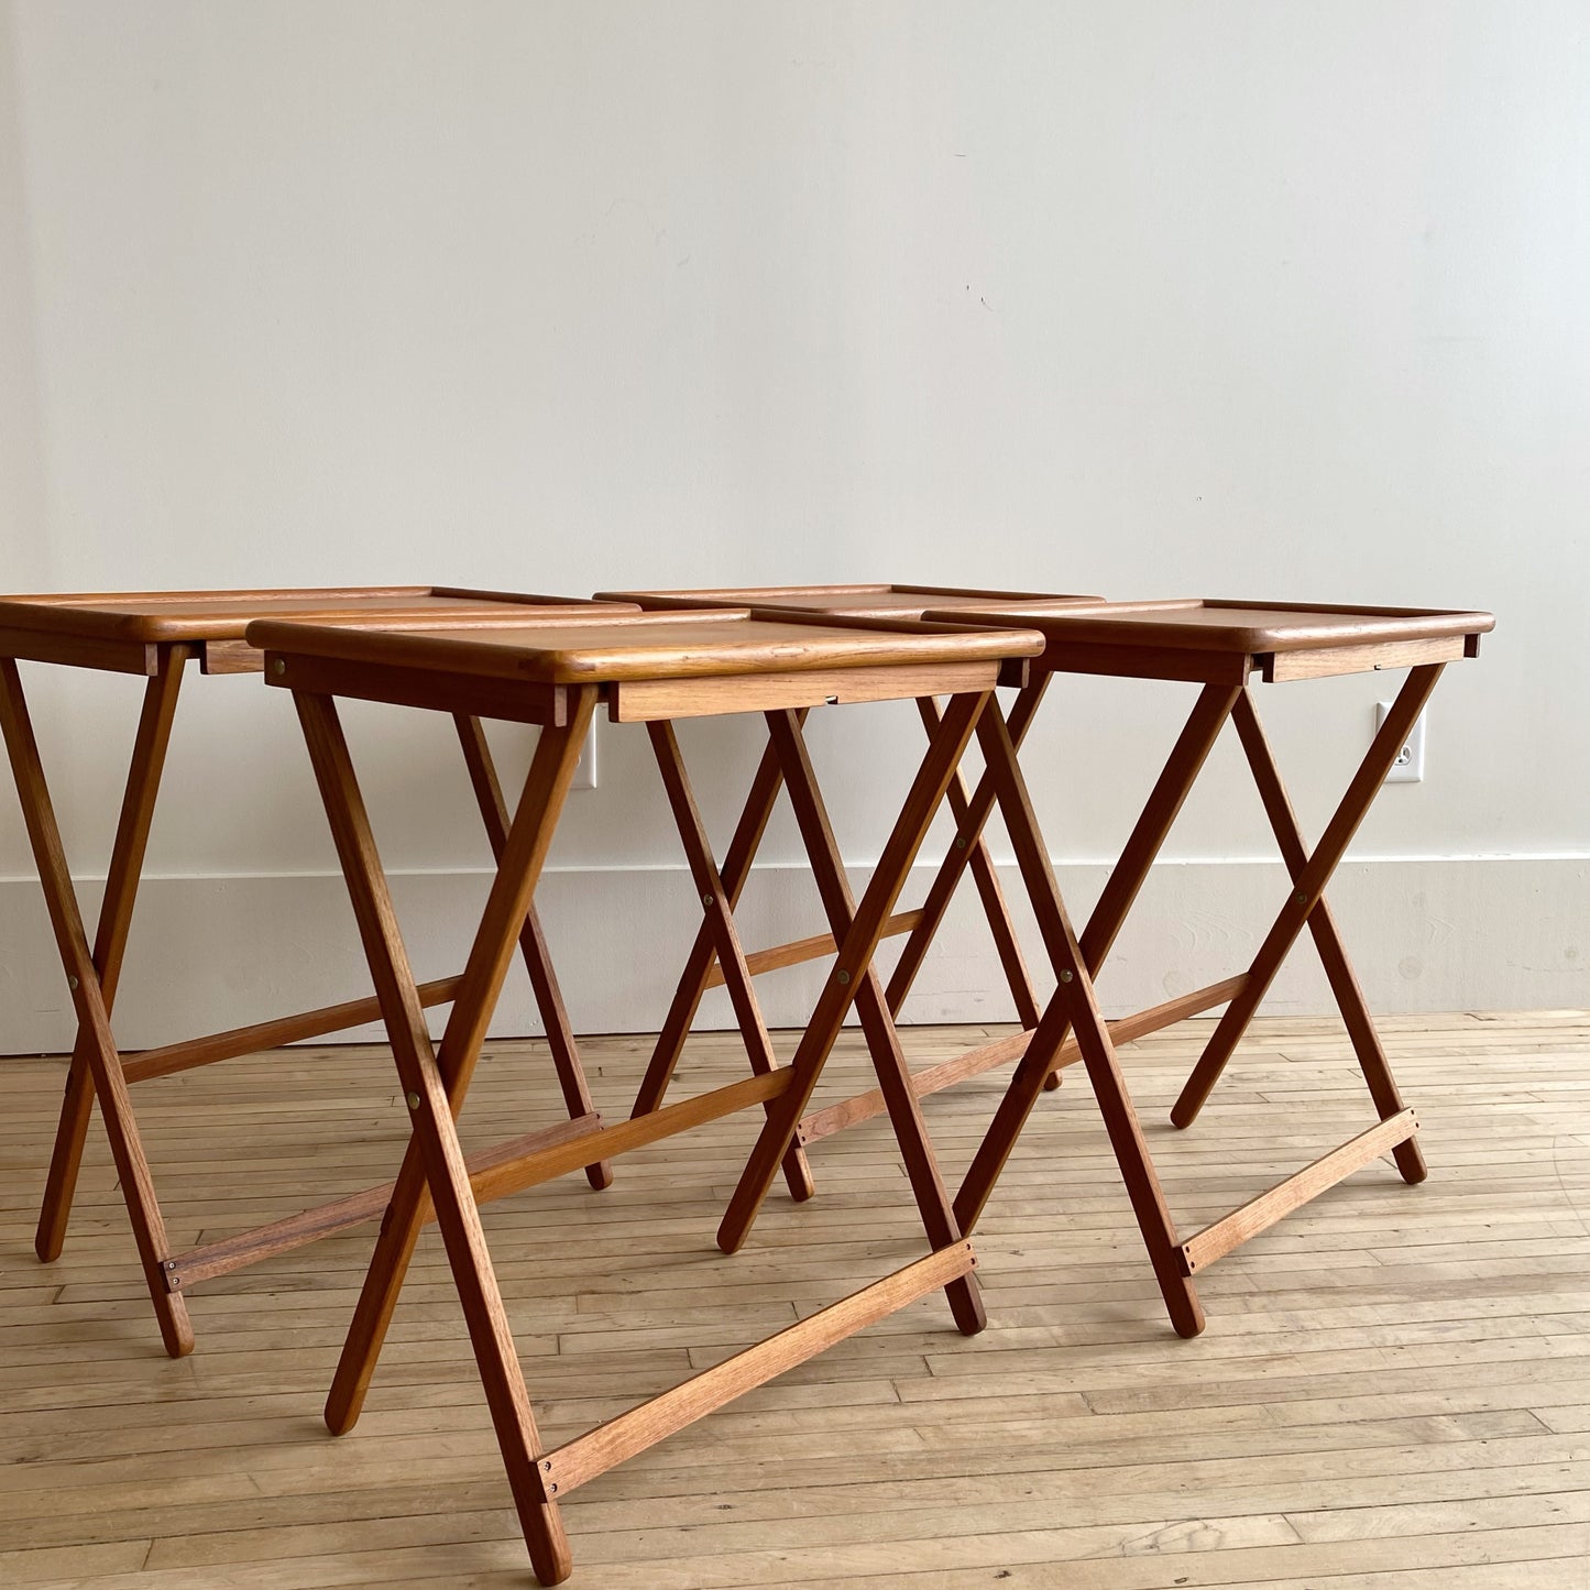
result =
[{"label": "raised rounded rim around the nearest front table's tray top", "polygon": [[[782,630],[847,630],[857,639],[841,646],[800,647],[793,641],[771,638],[731,639],[712,647],[696,639],[673,647],[663,663],[669,630],[712,623],[762,623]],[[607,636],[601,644],[576,647],[512,647],[488,644],[487,634],[520,631],[526,636],[537,628],[568,630],[572,626],[646,631],[660,636],[655,644],[623,636]],[[626,614],[587,611],[572,619],[539,615],[523,623],[474,626],[479,638],[440,623],[431,630],[372,630],[345,623],[294,622],[266,619],[248,626],[248,642],[283,658],[334,658],[382,668],[420,668],[436,673],[458,673],[520,679],[528,684],[596,685],[644,679],[709,679],[736,674],[811,673],[851,668],[909,668],[957,661],[1005,661],[1037,657],[1045,638],[1037,630],[1013,625],[921,623],[916,620],[873,622],[851,615],[830,620],[822,614],[785,614],[750,607],[669,609],[666,612]],[[824,636],[833,642],[833,636]],[[937,646],[929,642],[940,642]],[[916,642],[916,644],[911,644]],[[914,653],[914,655],[913,655]]]}]

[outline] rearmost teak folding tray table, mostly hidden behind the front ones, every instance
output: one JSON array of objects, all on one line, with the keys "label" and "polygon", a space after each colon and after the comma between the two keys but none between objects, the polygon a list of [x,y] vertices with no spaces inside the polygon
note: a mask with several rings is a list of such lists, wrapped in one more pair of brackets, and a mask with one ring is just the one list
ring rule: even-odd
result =
[{"label": "rearmost teak folding tray table, mostly hidden behind the front ones", "polygon": [[[933,607],[938,615],[949,617],[962,607],[986,607],[989,603],[1043,603],[1072,604],[1097,603],[1097,596],[1061,596],[1037,595],[1026,596],[1014,591],[968,590],[949,585],[747,585],[735,588],[700,588],[700,590],[666,590],[666,591],[604,591],[598,601],[634,603],[647,611],[669,611],[681,607],[750,607],[757,612],[811,612],[843,615],[851,619],[921,619]],[[1027,706],[1021,716],[1013,719],[1011,733],[1016,744],[1021,744],[1032,708],[1041,696],[1041,685],[1029,695]],[[933,696],[917,696],[917,712],[924,728],[932,733],[938,723],[938,703]],[[671,755],[669,744],[657,743],[660,760]],[[750,784],[750,793],[735,827],[733,840],[723,859],[723,884],[728,890],[730,906],[736,905],[741,890],[750,876],[757,849],[766,832],[768,819],[779,797],[782,776],[776,749],[770,744],[757,766]],[[938,935],[944,913],[954,897],[962,876],[970,868],[978,895],[983,903],[983,914],[999,952],[1005,981],[1016,1005],[1016,1018],[1024,1030],[1038,1024],[1038,995],[1027,973],[1027,965],[1021,952],[1021,943],[1010,921],[1010,909],[1005,905],[1005,894],[1000,887],[994,860],[981,830],[967,828],[968,795],[965,781],[956,773],[949,785],[949,803],[957,824],[954,843],[944,857],[943,867],[933,879],[922,905],[911,911],[900,911],[884,924],[886,935],[905,933],[906,941],[895,962],[887,983],[887,1000],[890,1016],[898,1016],[905,1005],[911,984],[921,971],[922,960]],[[762,971],[774,971],[782,967],[798,965],[820,956],[832,956],[835,949],[832,933],[817,933],[812,938],[797,940],[789,944],[776,944],[770,949],[758,949],[743,957],[733,952],[731,946],[722,943],[722,924],[708,914],[690,948],[690,956],[679,976],[668,1018],[663,1022],[652,1051],[646,1078],[634,1100],[634,1115],[655,1110],[665,1099],[673,1081],[690,1027],[695,1021],[701,997],[709,987],[728,984],[735,1006],[735,1018],[741,1037],[746,1041],[747,1054],[754,1067],[762,1067],[766,1049],[766,1027],[757,1008],[757,995],[750,986],[750,978]],[[911,1084],[917,1097],[925,1097],[941,1088],[951,1088],[968,1076],[999,1065],[1002,1061],[1014,1059],[1019,1053],[1019,1041],[1003,1040],[1003,1046],[989,1046],[973,1051],[973,1054],[938,1065],[925,1067],[913,1075]],[[1051,1075],[1048,1086],[1059,1086],[1059,1073]],[[812,1191],[811,1167],[806,1162],[806,1145],[841,1132],[860,1121],[881,1115],[884,1108],[882,1092],[871,1089],[857,1094],[854,1099],[838,1100],[820,1110],[811,1111],[801,1123],[795,1142],[785,1161],[785,1180],[790,1192],[797,1199],[809,1197]]]}]

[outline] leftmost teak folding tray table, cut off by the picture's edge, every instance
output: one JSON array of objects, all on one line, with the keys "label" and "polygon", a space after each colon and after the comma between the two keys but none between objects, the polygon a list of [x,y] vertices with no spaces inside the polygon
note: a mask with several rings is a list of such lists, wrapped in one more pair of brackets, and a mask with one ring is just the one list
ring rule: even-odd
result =
[{"label": "leftmost teak folding tray table, cut off by the picture's edge", "polygon": [[[374,999],[363,999],[189,1038],[142,1054],[121,1054],[110,1024],[111,1006],[188,661],[197,658],[205,674],[258,673],[262,666],[261,653],[248,646],[243,631],[251,620],[267,614],[337,617],[348,623],[401,628],[436,623],[444,615],[455,625],[483,620],[501,623],[504,614],[534,615],[593,606],[596,604],[568,596],[517,596],[425,585],[122,591],[0,599],[0,727],[78,1019],[35,1248],[46,1262],[60,1256],[97,1094],[161,1337],[173,1358],[191,1352],[194,1344],[183,1301],[186,1286],[372,1220],[385,1208],[390,1192],[388,1188],[374,1188],[186,1253],[173,1253],[170,1248],[127,1094],[129,1084],[340,1032],[380,1014]],[[40,762],[19,661],[134,674],[148,681],[92,951]],[[499,849],[507,822],[491,754],[479,720],[460,716],[456,725],[488,838],[493,849]],[[531,909],[526,909],[522,949],[569,1116],[590,1124],[596,1119],[595,1108],[541,925]],[[428,983],[421,999],[426,1005],[447,1003],[453,999],[456,984],[456,978]],[[568,1137],[571,1130],[569,1126],[556,1127],[553,1135]],[[611,1180],[607,1167],[598,1162],[591,1162],[587,1173],[593,1186],[606,1186]]]}]

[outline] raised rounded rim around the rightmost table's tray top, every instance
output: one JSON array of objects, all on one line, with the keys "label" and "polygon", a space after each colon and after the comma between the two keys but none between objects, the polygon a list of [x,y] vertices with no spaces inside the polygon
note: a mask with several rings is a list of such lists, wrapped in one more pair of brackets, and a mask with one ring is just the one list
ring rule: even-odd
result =
[{"label": "raised rounded rim around the rightmost table's tray top", "polygon": [[[1167,596],[1146,601],[1108,601],[1061,611],[1034,611],[1034,603],[1002,603],[997,607],[932,611],[929,619],[952,612],[957,623],[1034,623],[1051,641],[1083,646],[1161,646],[1178,650],[1270,652],[1364,646],[1375,641],[1417,641],[1453,634],[1485,634],[1496,626],[1495,614],[1479,609],[1382,607],[1359,603],[1282,603],[1226,596]],[[1227,607],[1237,612],[1294,614],[1296,622],[1189,623],[1177,612]]]}]

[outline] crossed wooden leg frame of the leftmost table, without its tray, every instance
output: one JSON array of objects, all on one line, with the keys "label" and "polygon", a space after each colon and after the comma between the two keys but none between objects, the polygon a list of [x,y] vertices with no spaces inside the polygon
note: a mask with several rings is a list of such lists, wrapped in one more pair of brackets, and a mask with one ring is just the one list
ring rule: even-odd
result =
[{"label": "crossed wooden leg frame of the leftmost table, without its tray", "polygon": [[[380,1014],[380,1006],[374,999],[355,1000],[235,1032],[186,1040],[135,1056],[124,1057],[119,1053],[110,1032],[110,1014],[121,979],[176,700],[189,658],[191,650],[184,646],[161,647],[157,669],[145,685],[143,708],[134,738],[132,762],[111,847],[110,871],[100,903],[87,976],[78,964],[81,959],[78,941],[86,938],[81,909],[65,863],[21,673],[14,661],[0,661],[0,712],[3,712],[5,720],[6,749],[38,863],[40,882],[78,1013],[78,1035],[67,1070],[65,1096],[40,1210],[35,1250],[46,1262],[60,1256],[97,1096],[102,1100],[100,1108],[110,1132],[113,1158],[161,1326],[161,1337],[173,1358],[191,1352],[194,1345],[181,1286],[227,1274],[243,1264],[258,1262],[304,1242],[342,1231],[350,1224],[372,1220],[385,1208],[390,1192],[390,1188],[375,1188],[186,1253],[175,1253],[170,1247],[137,1118],[127,1097],[129,1084],[301,1038],[345,1030]],[[485,733],[479,719],[458,714],[455,722],[485,820],[487,836],[496,854],[501,852],[506,840],[507,819]],[[545,938],[533,908],[523,924],[522,949],[537,1008],[547,1027],[549,1046],[571,1121],[582,1126],[593,1124],[598,1116],[563,1008]],[[421,1000],[426,1005],[436,1005],[450,999],[456,981],[456,978],[447,978],[425,984],[420,991]],[[84,983],[92,984],[92,987],[84,989]],[[102,1019],[89,1010],[94,1003],[100,1006]],[[86,1010],[87,1014],[84,1014]],[[595,1188],[609,1186],[612,1181],[612,1170],[604,1162],[593,1162],[585,1167],[585,1172]]]}]

